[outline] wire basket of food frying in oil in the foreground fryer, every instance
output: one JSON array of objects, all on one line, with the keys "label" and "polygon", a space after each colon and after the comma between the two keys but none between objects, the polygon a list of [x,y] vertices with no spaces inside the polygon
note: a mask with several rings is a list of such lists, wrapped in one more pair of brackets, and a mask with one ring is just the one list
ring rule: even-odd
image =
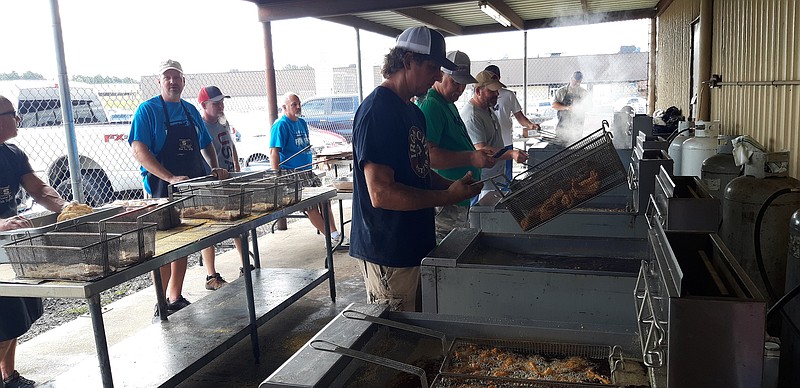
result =
[{"label": "wire basket of food frying in oil in the foreground fryer", "polygon": [[611,355],[604,345],[457,338],[441,373],[609,385]]}]

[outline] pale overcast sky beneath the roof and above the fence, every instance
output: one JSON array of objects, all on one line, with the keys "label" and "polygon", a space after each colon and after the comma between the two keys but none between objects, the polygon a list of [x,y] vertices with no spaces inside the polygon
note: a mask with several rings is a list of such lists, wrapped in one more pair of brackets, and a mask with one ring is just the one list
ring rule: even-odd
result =
[{"label": "pale overcast sky beneath the roof and above the fence", "polygon": [[[255,4],[244,0],[60,0],[67,73],[138,79],[167,58],[187,73],[264,68],[263,27]],[[0,33],[14,50],[0,56],[0,73],[33,71],[55,78],[50,0],[1,0]],[[620,45],[643,51],[648,21],[528,31],[528,56],[614,53]],[[272,23],[275,65],[346,66],[356,62],[352,27],[317,19]],[[520,31],[450,37],[448,50],[472,60],[522,58]],[[377,64],[393,38],[362,31],[362,61]],[[9,53],[12,53],[9,55]]]}]

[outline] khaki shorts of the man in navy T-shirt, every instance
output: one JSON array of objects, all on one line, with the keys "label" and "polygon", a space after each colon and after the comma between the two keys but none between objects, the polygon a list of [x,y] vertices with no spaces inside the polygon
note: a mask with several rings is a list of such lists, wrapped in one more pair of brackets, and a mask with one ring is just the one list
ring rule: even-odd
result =
[{"label": "khaki shorts of the man in navy T-shirt", "polygon": [[419,267],[387,267],[360,261],[367,303],[386,304],[391,311],[421,311]]}]

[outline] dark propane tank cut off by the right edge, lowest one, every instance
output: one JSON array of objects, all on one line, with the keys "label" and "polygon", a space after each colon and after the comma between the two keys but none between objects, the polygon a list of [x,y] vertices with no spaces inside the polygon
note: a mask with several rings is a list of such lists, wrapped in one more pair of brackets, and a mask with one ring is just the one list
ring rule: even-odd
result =
[{"label": "dark propane tank cut off by the right edge, lowest one", "polygon": [[[786,292],[800,286],[800,210],[789,220],[789,255],[786,258]],[[800,296],[783,306],[796,324],[800,322]],[[778,314],[781,317],[781,314]],[[781,332],[780,386],[800,387],[800,334],[784,324]]]}]

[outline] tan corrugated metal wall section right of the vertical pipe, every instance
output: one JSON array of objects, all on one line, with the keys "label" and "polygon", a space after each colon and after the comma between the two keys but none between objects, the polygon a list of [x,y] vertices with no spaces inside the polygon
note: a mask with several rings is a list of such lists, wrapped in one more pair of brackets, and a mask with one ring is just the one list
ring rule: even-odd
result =
[{"label": "tan corrugated metal wall section right of the vertical pipe", "polygon": [[[714,2],[711,72],[723,82],[800,83],[800,0]],[[711,91],[711,117],[725,133],[752,136],[800,161],[800,85],[724,86]]]}]

